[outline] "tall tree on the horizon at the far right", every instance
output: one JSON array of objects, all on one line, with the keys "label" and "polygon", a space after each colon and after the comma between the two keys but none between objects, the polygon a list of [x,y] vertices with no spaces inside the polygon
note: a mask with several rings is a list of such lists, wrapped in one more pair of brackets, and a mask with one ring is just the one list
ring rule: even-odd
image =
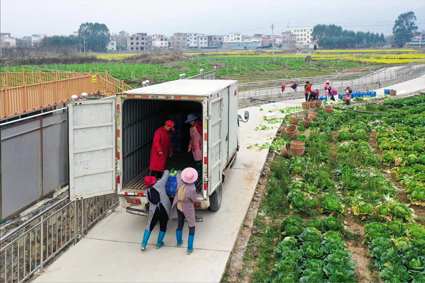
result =
[{"label": "tall tree on the horizon at the far right", "polygon": [[418,26],[415,25],[415,21],[416,16],[412,11],[400,14],[395,20],[394,27],[392,28],[394,41],[403,45],[406,45],[406,42],[411,41],[417,34],[418,30]]}]

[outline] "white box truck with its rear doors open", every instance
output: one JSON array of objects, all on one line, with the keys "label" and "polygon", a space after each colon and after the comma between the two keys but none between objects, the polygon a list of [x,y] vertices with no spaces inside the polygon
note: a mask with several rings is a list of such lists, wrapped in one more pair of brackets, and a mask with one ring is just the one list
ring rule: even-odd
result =
[{"label": "white box truck with its rear doors open", "polygon": [[238,125],[244,120],[237,110],[237,81],[224,80],[169,81],[119,93],[115,99],[69,102],[70,199],[117,191],[127,212],[147,215],[143,180],[149,173],[154,132],[173,120],[174,154],[166,169],[195,167],[187,152],[190,125],[184,122],[196,113],[203,124],[203,165],[194,205],[217,211],[239,150]]}]

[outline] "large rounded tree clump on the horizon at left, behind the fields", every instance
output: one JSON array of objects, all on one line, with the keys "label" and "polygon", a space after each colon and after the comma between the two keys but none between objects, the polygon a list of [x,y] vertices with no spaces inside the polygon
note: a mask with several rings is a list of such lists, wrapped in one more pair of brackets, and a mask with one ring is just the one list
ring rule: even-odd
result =
[{"label": "large rounded tree clump on the horizon at left, behind the fields", "polygon": [[105,24],[83,23],[78,29],[78,34],[83,40],[84,52],[102,52],[109,43],[109,29]]}]

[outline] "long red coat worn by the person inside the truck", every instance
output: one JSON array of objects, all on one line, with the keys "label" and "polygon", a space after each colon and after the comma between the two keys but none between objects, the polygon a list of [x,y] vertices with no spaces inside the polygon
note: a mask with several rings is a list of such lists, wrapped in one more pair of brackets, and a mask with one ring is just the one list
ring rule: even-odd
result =
[{"label": "long red coat worn by the person inside the truck", "polygon": [[[163,154],[159,155],[161,151]],[[172,152],[170,133],[162,126],[154,134],[149,169],[163,172],[170,152]]]}]

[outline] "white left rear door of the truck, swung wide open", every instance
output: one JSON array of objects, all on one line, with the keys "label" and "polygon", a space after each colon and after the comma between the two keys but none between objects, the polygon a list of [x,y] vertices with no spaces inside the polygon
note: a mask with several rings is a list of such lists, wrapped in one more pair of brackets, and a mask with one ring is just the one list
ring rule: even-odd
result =
[{"label": "white left rear door of the truck, swung wide open", "polygon": [[115,100],[68,103],[70,201],[115,192]]}]

